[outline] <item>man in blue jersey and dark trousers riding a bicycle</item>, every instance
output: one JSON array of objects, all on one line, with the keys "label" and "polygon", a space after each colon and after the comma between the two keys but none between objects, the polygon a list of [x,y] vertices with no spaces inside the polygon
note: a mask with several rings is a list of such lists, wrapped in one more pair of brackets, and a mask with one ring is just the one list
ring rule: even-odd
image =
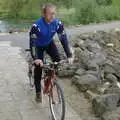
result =
[{"label": "man in blue jersey and dark trousers riding a bicycle", "polygon": [[32,25],[30,30],[30,49],[31,55],[35,63],[34,83],[36,88],[36,101],[41,101],[41,65],[43,64],[44,51],[50,55],[53,62],[60,61],[58,49],[53,41],[55,33],[61,41],[68,61],[72,61],[72,53],[70,51],[64,26],[60,20],[55,18],[56,6],[46,4],[42,7],[42,16]]}]

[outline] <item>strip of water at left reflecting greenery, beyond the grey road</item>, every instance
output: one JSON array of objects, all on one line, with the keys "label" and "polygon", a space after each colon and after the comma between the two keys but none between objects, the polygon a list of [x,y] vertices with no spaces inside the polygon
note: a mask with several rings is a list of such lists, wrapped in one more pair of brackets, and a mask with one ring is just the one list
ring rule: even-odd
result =
[{"label": "strip of water at left reflecting greenery, beyond the grey road", "polygon": [[0,32],[23,31],[30,29],[32,22],[20,20],[0,20]]}]

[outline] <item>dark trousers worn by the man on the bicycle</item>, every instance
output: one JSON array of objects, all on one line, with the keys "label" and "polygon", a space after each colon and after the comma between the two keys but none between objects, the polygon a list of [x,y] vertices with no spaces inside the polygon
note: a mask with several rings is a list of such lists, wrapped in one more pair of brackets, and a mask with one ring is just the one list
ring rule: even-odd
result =
[{"label": "dark trousers worn by the man on the bicycle", "polygon": [[[53,62],[60,61],[60,55],[55,43],[52,41],[47,47],[36,47],[38,59],[44,59],[44,52],[46,51],[47,54],[51,57]],[[40,66],[35,66],[34,69],[34,83],[36,92],[41,92],[41,76],[42,76],[42,69]]]}]

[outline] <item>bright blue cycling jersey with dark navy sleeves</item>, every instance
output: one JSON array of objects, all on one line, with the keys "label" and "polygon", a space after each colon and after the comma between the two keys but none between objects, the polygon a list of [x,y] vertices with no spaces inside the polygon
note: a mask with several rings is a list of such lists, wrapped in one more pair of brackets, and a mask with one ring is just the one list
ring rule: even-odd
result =
[{"label": "bright blue cycling jersey with dark navy sleeves", "polygon": [[32,25],[30,30],[30,48],[48,46],[53,40],[55,33],[58,34],[67,57],[71,57],[64,26],[58,19],[54,19],[51,23],[48,24],[43,17],[40,17]]}]

